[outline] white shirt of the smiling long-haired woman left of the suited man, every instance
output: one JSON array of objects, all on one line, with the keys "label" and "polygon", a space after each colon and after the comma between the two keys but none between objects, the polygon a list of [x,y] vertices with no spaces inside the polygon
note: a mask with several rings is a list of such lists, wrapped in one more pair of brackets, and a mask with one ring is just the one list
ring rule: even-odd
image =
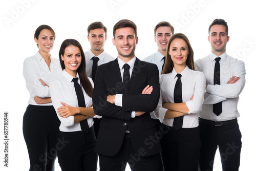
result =
[{"label": "white shirt of the smiling long-haired woman left of the suited man", "polygon": [[[78,73],[76,74],[76,77],[78,77],[78,83],[80,84],[80,79]],[[54,109],[57,113],[57,109],[62,106],[60,102],[66,103],[72,107],[78,107],[78,100],[76,96],[76,91],[74,87],[74,82],[72,82],[72,79],[74,77],[67,73],[65,70],[63,70],[62,75],[56,78],[55,80],[51,81],[50,83],[50,92],[51,92],[51,98],[52,103],[54,106]],[[93,80],[89,78],[92,86],[94,87]],[[92,98],[89,97],[84,90],[83,96],[84,101],[86,102],[86,108],[90,108],[93,104]],[[57,113],[58,115],[58,113]],[[59,131],[62,132],[75,132],[75,131],[81,131],[80,122],[74,123],[74,116],[69,116],[68,118],[62,118],[58,115],[59,120],[61,121],[59,126]],[[92,117],[89,117],[87,119],[89,127],[93,125],[93,119]]]}]

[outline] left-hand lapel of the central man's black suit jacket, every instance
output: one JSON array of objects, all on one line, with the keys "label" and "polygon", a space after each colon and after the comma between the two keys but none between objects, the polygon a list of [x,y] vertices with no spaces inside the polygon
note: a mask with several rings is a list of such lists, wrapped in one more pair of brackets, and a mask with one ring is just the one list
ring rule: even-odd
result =
[{"label": "left-hand lapel of the central man's black suit jacket", "polygon": [[[115,82],[115,86],[116,86],[115,88],[117,89],[118,94],[124,94],[123,87],[122,87],[122,89],[119,88],[120,87],[119,85],[122,84],[123,81],[122,81],[117,58],[115,60],[113,60],[110,71],[111,71],[113,81]],[[118,88],[117,88],[117,86],[118,86]]]}]

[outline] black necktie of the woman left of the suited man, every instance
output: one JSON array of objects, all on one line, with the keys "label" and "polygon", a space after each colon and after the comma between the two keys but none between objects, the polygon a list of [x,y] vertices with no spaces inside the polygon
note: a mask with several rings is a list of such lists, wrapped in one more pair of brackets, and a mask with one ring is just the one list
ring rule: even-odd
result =
[{"label": "black necktie of the woman left of the suited man", "polygon": [[[84,101],[82,89],[81,89],[80,84],[77,82],[77,80],[78,80],[77,77],[72,79],[72,81],[74,82],[74,86],[75,86],[76,96],[77,96],[77,100],[78,100],[78,106],[86,108],[86,102]],[[88,133],[89,126],[88,126],[87,119],[80,121],[80,126],[81,126],[82,131]]]}]

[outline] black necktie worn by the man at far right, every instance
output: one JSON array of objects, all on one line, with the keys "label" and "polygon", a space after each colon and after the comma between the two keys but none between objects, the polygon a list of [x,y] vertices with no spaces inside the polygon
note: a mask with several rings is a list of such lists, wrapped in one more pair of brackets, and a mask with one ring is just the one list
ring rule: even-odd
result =
[{"label": "black necktie worn by the man at far right", "polygon": [[[215,67],[214,67],[214,85],[221,84],[221,74],[220,74],[220,57],[215,58]],[[212,110],[215,115],[219,116],[222,113],[222,102],[216,103],[213,105]]]}]

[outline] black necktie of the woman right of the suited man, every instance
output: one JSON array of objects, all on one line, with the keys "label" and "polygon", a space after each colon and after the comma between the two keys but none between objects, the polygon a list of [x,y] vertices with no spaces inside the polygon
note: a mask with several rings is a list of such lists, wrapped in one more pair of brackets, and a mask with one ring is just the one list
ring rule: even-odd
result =
[{"label": "black necktie of the woman right of the suited man", "polygon": [[[181,84],[181,74],[177,74],[176,75],[178,77],[176,84],[175,84],[175,88],[174,88],[174,102],[175,103],[182,103],[182,84]],[[175,130],[180,130],[182,128],[182,124],[183,124],[183,116],[174,118],[174,123],[173,123],[173,127]]]}]

